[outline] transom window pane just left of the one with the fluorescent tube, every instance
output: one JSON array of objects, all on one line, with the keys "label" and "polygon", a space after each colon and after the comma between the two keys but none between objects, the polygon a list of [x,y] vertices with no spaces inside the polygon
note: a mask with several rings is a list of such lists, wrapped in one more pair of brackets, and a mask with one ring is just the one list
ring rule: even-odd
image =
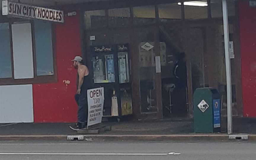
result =
[{"label": "transom window pane just left of the one with the fluorescent tube", "polygon": [[161,22],[169,22],[181,19],[181,5],[175,4],[160,4],[158,6],[159,19]]}]

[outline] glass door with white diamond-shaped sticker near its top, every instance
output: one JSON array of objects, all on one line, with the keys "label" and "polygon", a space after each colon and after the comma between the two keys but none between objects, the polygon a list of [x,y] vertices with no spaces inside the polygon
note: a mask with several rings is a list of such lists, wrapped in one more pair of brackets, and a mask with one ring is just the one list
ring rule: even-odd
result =
[{"label": "glass door with white diamond-shaped sticker near its top", "polygon": [[[138,58],[137,70],[140,93],[141,118],[161,119],[161,104],[159,105],[159,85],[157,84],[156,55],[159,48],[156,44],[156,33],[153,28],[135,30],[135,48]],[[158,45],[159,46],[159,45]],[[161,90],[161,89],[160,89]]]}]

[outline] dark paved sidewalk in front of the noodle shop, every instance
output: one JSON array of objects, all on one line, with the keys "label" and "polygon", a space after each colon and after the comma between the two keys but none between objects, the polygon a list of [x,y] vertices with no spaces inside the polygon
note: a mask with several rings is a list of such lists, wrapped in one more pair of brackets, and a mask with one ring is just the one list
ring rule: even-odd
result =
[{"label": "dark paved sidewalk in front of the noodle shop", "polygon": [[[19,123],[7,126],[0,124],[0,140],[59,140],[66,139],[67,135],[76,135],[76,131],[69,128],[71,123]],[[221,133],[195,134],[193,133],[193,119],[166,119],[166,120],[141,120],[125,122],[105,122],[111,125],[112,130],[98,135],[86,135],[93,139],[226,139],[226,118],[222,118]],[[256,134],[256,120],[249,118],[233,117],[233,131]]]}]

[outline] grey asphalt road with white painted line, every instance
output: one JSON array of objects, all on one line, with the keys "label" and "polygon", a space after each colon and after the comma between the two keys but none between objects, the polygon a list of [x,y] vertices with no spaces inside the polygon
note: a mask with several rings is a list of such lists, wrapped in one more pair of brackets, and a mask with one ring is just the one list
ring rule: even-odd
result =
[{"label": "grey asphalt road with white painted line", "polygon": [[255,160],[252,141],[0,141],[1,160]]}]

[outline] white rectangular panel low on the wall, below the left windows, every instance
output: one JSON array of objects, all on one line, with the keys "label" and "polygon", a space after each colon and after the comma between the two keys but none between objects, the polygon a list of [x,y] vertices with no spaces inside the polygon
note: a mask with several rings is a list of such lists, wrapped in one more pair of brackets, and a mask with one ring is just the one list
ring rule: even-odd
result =
[{"label": "white rectangular panel low on the wall, below the left windows", "polygon": [[32,84],[0,86],[0,123],[33,121]]}]

